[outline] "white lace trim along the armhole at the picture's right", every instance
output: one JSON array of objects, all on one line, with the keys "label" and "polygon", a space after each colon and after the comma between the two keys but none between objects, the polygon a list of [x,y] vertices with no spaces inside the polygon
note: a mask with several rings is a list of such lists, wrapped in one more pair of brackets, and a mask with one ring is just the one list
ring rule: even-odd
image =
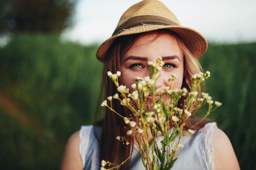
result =
[{"label": "white lace trim along the armhole at the picture's right", "polygon": [[214,128],[217,127],[216,122],[207,123],[203,131],[203,142],[205,144],[205,159],[206,165],[209,170],[215,170],[213,161],[213,145],[212,145],[212,133]]}]

